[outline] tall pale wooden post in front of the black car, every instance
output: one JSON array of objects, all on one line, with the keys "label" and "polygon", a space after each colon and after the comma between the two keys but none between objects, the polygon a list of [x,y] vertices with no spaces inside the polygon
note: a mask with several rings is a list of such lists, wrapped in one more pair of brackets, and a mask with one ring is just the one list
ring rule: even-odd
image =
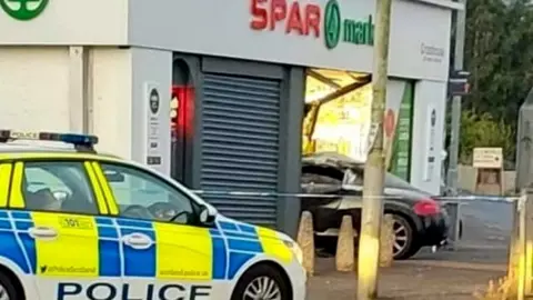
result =
[{"label": "tall pale wooden post in front of the black car", "polygon": [[[372,73],[371,130],[364,166],[363,209],[358,259],[358,300],[378,298],[380,263],[380,228],[383,214],[383,181],[385,174],[383,152],[383,119],[385,114],[389,70],[389,36],[392,0],[376,1],[374,67]],[[370,136],[373,136],[372,132]]]}]

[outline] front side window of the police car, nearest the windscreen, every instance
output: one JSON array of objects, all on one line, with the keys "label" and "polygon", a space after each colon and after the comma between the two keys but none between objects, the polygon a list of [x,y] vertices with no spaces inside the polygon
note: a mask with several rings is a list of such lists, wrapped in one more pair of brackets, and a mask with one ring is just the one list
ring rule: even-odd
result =
[{"label": "front side window of the police car, nearest the windscreen", "polygon": [[164,180],[135,168],[101,163],[121,217],[188,223],[191,200]]}]

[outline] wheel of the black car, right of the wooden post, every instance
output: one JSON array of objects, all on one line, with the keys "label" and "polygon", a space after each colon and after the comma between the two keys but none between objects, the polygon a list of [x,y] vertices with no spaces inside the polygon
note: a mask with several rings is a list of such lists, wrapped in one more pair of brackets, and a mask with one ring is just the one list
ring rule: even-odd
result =
[{"label": "wheel of the black car, right of the wooden post", "polygon": [[392,254],[394,259],[402,260],[414,256],[420,246],[414,239],[414,228],[403,216],[393,214],[394,244]]}]

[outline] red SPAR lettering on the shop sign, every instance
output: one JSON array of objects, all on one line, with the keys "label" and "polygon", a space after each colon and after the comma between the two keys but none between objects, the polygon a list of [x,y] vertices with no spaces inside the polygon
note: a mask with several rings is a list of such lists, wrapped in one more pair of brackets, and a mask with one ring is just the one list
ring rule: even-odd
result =
[{"label": "red SPAR lettering on the shop sign", "polygon": [[250,27],[254,30],[275,30],[283,27],[286,34],[320,37],[321,9],[318,4],[300,4],[286,0],[251,0]]}]

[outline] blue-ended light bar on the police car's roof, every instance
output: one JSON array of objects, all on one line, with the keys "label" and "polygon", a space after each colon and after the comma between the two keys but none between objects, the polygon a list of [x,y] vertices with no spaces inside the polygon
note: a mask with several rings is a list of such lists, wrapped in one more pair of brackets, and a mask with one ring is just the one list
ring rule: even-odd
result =
[{"label": "blue-ended light bar on the police car's roof", "polygon": [[60,141],[80,151],[94,151],[93,146],[98,143],[98,137],[88,134],[0,130],[0,142],[12,140]]}]

